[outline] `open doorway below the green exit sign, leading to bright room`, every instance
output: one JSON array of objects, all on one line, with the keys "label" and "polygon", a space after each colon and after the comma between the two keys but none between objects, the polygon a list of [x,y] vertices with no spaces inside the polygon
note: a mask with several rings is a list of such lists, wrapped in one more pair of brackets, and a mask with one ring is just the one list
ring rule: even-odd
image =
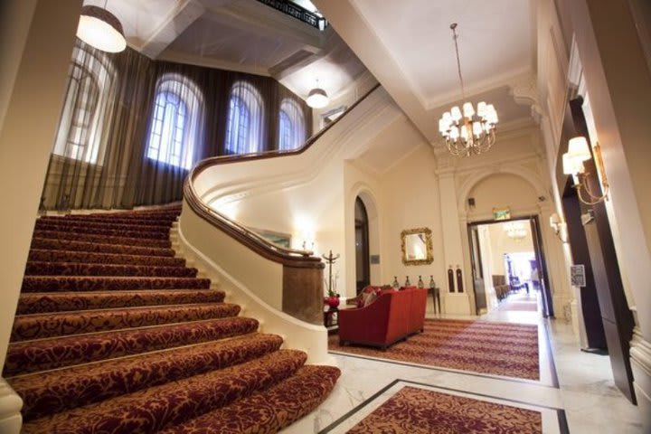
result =
[{"label": "open doorway below the green exit sign, leading to bright room", "polygon": [[468,224],[476,315],[553,316],[538,228],[537,216]]}]

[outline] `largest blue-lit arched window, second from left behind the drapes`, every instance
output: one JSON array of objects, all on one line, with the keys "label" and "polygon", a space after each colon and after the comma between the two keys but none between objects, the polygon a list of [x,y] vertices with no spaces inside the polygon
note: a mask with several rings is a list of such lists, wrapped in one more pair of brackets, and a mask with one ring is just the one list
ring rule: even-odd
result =
[{"label": "largest blue-lit arched window, second from left behind the drapes", "polygon": [[192,80],[165,74],[156,84],[146,156],[184,169],[192,167],[200,140],[201,93]]}]

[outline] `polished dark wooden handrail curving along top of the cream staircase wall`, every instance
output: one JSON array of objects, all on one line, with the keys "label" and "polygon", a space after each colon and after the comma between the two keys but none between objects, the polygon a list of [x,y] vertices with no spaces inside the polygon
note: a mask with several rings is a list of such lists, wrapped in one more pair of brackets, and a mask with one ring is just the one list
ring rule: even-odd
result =
[{"label": "polished dark wooden handrail curving along top of the cream staircase wall", "polygon": [[351,105],[348,109],[344,111],[342,116],[335,119],[334,122],[327,125],[319,132],[317,132],[312,137],[309,137],[304,146],[301,146],[298,149],[293,149],[290,151],[281,151],[281,150],[272,150],[259,152],[256,154],[247,154],[247,155],[237,155],[237,156],[212,156],[210,158],[203,159],[196,165],[194,165],[192,171],[185,179],[184,183],[184,198],[185,202],[196,212],[200,217],[203,218],[206,222],[210,222],[212,226],[226,232],[232,238],[240,241],[242,244],[248,246],[251,250],[256,251],[262,257],[273,260],[274,262],[279,262],[283,265],[287,265],[295,268],[319,268],[323,269],[325,264],[321,261],[320,258],[312,256],[314,254],[311,250],[296,250],[296,249],[287,249],[277,244],[274,244],[264,238],[262,238],[258,233],[250,231],[246,227],[242,226],[238,222],[234,222],[221,212],[217,212],[210,208],[208,205],[203,203],[199,195],[194,189],[194,180],[198,175],[200,175],[205,169],[213,165],[224,165],[229,163],[236,163],[242,161],[253,161],[263,158],[273,158],[279,156],[297,156],[312,146],[319,137],[322,137],[327,130],[333,127],[338,123],[342,118],[344,118],[352,109],[354,109],[363,99],[366,99],[373,90],[379,88],[380,85],[377,84],[373,89],[366,92],[362,98],[357,99],[354,104]]}]

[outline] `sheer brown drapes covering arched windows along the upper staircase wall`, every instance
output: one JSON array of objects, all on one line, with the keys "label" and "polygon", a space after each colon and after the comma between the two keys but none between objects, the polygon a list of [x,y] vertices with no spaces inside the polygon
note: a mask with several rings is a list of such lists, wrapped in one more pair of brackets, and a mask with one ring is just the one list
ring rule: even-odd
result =
[{"label": "sheer brown drapes covering arched windows along the upper staircase wall", "polygon": [[43,185],[45,209],[133,208],[183,197],[199,160],[278,148],[276,80],[107,54],[77,40]]}]

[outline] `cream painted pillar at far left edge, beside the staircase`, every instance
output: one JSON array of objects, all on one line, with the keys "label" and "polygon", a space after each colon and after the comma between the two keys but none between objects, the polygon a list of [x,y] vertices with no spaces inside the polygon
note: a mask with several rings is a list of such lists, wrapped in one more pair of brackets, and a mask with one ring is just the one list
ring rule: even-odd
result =
[{"label": "cream painted pillar at far left edge, beside the staircase", "polygon": [[[2,198],[6,206],[0,216],[0,239],[6,246],[0,251],[3,264],[0,365],[5,363],[14,323],[45,169],[61,111],[81,0],[42,0],[33,5],[3,7],[3,13],[10,13],[3,16],[3,24],[14,24],[6,30],[9,41],[17,45],[16,50],[22,46],[24,50],[3,51],[0,62],[3,65],[6,62],[0,89],[8,97],[3,103],[6,111],[0,130],[0,183],[7,186]],[[13,89],[8,91],[12,81]]]}]

